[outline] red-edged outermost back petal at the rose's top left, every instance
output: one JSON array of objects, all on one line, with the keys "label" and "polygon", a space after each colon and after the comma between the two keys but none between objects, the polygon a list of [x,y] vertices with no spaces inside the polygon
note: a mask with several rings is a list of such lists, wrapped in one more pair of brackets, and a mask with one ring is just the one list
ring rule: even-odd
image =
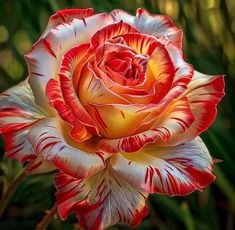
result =
[{"label": "red-edged outermost back petal at the rose's top left", "polygon": [[57,11],[54,15],[52,15],[48,21],[48,25],[43,32],[42,37],[45,37],[47,33],[56,27],[59,24],[71,22],[74,18],[83,19],[93,15],[93,9],[65,9]]}]

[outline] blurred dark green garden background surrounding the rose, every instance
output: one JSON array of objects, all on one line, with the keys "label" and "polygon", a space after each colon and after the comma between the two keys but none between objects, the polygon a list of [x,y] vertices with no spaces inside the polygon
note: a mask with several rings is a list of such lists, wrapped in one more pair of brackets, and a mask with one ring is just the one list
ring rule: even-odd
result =
[{"label": "blurred dark green garden background surrounding the rose", "polygon": [[[150,214],[138,229],[235,229],[235,1],[0,0],[0,91],[26,78],[23,55],[39,38],[50,15],[64,8],[86,7],[93,7],[95,12],[121,8],[132,14],[142,7],[166,14],[184,31],[187,61],[203,73],[226,75],[226,96],[218,107],[216,121],[202,135],[213,158],[223,160],[215,167],[217,180],[204,192],[187,197],[150,196]],[[1,196],[22,166],[4,158],[4,143],[0,141]],[[12,191],[0,229],[35,229],[54,204],[52,175],[29,176]],[[47,229],[71,230],[79,226],[74,215],[66,222],[55,216]]]}]

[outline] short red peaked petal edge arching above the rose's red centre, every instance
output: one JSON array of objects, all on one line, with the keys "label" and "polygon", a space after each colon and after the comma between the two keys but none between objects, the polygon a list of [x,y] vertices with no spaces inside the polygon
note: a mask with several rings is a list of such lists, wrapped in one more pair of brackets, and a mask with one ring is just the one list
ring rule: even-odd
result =
[{"label": "short red peaked petal edge arching above the rose's red centre", "polygon": [[139,31],[123,21],[113,23],[101,30],[97,30],[91,38],[91,45],[95,48],[109,39],[129,33],[139,33]]}]

